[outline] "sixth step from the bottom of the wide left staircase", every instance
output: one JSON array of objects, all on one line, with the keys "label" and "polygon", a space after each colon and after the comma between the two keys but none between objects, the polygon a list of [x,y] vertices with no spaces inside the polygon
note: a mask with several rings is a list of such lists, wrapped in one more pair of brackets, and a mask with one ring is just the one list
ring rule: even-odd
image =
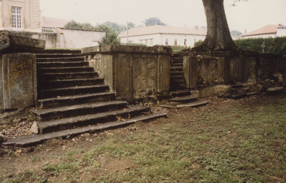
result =
[{"label": "sixth step from the bottom of the wide left staircase", "polygon": [[86,85],[98,85],[103,84],[103,78],[92,78],[92,79],[66,79],[56,81],[38,81],[38,89],[54,89],[72,86],[86,86]]}]

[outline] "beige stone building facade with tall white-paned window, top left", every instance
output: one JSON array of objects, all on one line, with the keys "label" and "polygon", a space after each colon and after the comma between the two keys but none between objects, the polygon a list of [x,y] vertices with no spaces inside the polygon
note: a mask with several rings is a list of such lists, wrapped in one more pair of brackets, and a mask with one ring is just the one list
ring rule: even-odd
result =
[{"label": "beige stone building facade with tall white-paned window, top left", "polygon": [[41,32],[40,0],[0,0],[0,30]]}]

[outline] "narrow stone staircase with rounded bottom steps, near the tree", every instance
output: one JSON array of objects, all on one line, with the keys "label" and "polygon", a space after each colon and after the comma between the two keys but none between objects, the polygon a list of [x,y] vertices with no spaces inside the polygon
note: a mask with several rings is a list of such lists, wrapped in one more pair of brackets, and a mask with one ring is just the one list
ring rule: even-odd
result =
[{"label": "narrow stone staircase with rounded bottom steps, near the tree", "polygon": [[200,107],[208,104],[206,100],[198,99],[187,89],[183,75],[183,58],[173,55],[170,60],[170,91],[172,98],[166,104],[160,105],[163,108]]}]

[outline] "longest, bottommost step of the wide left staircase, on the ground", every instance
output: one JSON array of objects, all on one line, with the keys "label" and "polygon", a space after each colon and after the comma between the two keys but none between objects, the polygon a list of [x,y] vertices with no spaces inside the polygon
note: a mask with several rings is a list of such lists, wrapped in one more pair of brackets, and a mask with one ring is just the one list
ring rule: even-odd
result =
[{"label": "longest, bottommost step of the wide left staircase, on the ground", "polygon": [[38,143],[47,141],[49,139],[65,138],[67,136],[74,137],[74,136],[84,134],[84,133],[100,133],[104,130],[119,128],[122,126],[134,124],[134,123],[139,122],[139,121],[153,120],[156,118],[161,118],[161,117],[166,117],[166,116],[167,116],[166,113],[156,112],[156,113],[146,115],[146,116],[142,116],[142,117],[131,118],[130,120],[127,120],[127,121],[109,122],[109,123],[105,123],[105,124],[87,126],[87,127],[83,127],[83,128],[62,130],[62,131],[48,133],[48,134],[18,137],[18,138],[14,138],[14,139],[11,139],[11,140],[4,142],[3,145],[5,145],[5,146],[20,146],[20,147],[30,146],[33,144],[38,144]]}]

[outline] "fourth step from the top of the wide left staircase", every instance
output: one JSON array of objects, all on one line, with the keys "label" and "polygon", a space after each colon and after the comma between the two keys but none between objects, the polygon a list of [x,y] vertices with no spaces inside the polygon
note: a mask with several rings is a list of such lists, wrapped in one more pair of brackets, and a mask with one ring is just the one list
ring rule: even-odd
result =
[{"label": "fourth step from the top of the wide left staircase", "polygon": [[37,62],[37,68],[87,67],[88,62]]}]

